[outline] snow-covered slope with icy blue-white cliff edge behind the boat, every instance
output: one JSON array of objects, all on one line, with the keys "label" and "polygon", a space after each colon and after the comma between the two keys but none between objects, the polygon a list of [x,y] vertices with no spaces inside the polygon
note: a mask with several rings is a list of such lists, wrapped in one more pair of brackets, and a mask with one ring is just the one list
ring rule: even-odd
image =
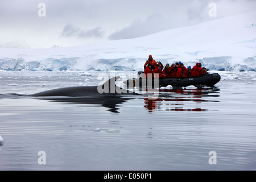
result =
[{"label": "snow-covered slope with icy blue-white cliff edge behind the boat", "polygon": [[163,64],[200,62],[210,70],[256,71],[256,11],[141,38],[80,47],[0,48],[0,70],[62,71],[143,68],[148,55]]}]

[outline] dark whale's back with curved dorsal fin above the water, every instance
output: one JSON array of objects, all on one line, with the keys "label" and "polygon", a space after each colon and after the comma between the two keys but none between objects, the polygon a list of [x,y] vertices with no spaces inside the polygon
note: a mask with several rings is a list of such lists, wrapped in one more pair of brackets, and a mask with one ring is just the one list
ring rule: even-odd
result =
[{"label": "dark whale's back with curved dorsal fin above the water", "polygon": [[115,85],[120,77],[116,76],[110,78],[102,85],[98,86],[71,86],[66,88],[52,89],[44,92],[30,94],[31,97],[51,97],[51,96],[68,96],[68,97],[81,97],[81,96],[115,96],[120,94],[134,94],[138,93],[131,92],[119,86]]}]

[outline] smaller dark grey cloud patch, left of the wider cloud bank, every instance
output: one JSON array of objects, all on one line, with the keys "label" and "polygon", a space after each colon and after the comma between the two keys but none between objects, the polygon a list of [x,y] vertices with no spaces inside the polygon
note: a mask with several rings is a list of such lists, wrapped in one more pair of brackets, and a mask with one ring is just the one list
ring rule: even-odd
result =
[{"label": "smaller dark grey cloud patch, left of the wider cloud bank", "polygon": [[93,28],[92,30],[82,30],[74,26],[72,23],[67,23],[63,28],[62,37],[76,37],[76,38],[101,38],[104,31],[101,27]]}]

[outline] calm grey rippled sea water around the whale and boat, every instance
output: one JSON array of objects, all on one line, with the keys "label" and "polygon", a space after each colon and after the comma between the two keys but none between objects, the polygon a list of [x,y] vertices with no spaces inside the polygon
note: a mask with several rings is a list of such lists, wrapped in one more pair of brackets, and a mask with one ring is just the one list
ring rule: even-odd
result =
[{"label": "calm grey rippled sea water around the whale and boat", "polygon": [[[162,90],[159,98],[39,100],[97,73],[2,72],[0,170],[255,170],[256,81]],[[39,151],[46,164],[39,165]],[[217,164],[209,164],[210,151]]]}]

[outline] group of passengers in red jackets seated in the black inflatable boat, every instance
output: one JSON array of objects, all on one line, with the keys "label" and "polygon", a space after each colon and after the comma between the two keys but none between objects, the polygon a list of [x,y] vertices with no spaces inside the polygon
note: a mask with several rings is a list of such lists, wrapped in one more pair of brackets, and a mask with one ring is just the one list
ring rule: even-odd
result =
[{"label": "group of passengers in red jackets seated in the black inflatable boat", "polygon": [[147,77],[148,74],[152,74],[152,77],[156,77],[158,73],[159,77],[164,78],[187,78],[187,77],[197,77],[209,74],[208,69],[202,68],[201,63],[196,63],[196,65],[191,69],[191,66],[186,68],[183,63],[176,62],[175,64],[163,64],[158,61],[156,62],[152,55],[148,56],[148,60],[144,64],[144,73]]}]

